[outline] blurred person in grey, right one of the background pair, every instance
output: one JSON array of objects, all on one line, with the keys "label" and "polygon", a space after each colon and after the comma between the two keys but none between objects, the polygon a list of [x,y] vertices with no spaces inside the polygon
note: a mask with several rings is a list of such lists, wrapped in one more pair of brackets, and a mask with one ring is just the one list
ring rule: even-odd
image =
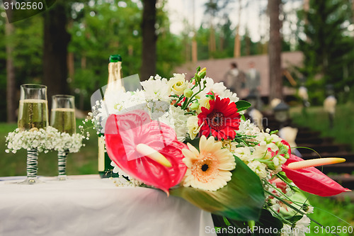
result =
[{"label": "blurred person in grey, right one of the background pair", "polygon": [[261,74],[259,74],[256,69],[256,64],[254,62],[249,62],[249,70],[246,72],[246,90],[249,96],[256,96],[257,102],[254,106],[260,110],[261,107]]}]

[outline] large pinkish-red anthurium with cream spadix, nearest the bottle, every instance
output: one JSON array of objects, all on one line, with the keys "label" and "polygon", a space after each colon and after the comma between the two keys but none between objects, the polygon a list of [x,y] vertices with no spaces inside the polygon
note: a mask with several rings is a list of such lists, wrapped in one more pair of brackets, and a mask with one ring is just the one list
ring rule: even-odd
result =
[{"label": "large pinkish-red anthurium with cream spadix, nearest the bottle", "polygon": [[124,172],[167,194],[180,183],[187,167],[173,128],[150,120],[145,111],[110,115],[105,124],[105,145],[110,159]]}]

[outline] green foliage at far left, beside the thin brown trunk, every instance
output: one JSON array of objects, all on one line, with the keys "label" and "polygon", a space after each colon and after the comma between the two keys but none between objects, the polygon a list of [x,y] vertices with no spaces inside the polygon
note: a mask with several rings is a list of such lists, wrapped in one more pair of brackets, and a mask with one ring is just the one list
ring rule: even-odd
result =
[{"label": "green foliage at far left, beside the thin brown trunk", "polygon": [[[42,21],[36,15],[12,23],[14,32],[5,35],[6,13],[0,8],[0,93],[6,94],[6,45],[13,47],[13,64],[18,88],[25,83],[40,83],[42,78]],[[19,94],[16,93],[16,95]],[[6,120],[6,99],[0,101],[0,121]]]}]

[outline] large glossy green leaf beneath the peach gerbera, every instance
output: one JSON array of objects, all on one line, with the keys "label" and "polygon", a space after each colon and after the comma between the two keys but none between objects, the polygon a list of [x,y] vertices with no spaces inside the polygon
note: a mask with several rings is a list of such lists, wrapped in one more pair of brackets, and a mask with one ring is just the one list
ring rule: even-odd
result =
[{"label": "large glossy green leaf beneath the peach gerbera", "polygon": [[205,191],[179,186],[170,194],[195,206],[232,220],[258,220],[265,197],[259,177],[238,157],[232,179],[222,189]]}]

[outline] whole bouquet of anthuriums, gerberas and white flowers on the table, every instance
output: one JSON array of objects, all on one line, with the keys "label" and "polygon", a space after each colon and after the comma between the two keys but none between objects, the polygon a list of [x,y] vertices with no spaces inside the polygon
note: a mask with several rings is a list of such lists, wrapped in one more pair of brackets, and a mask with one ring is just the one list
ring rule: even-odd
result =
[{"label": "whole bouquet of anthuriums, gerberas and white flowers on the table", "polygon": [[106,93],[91,114],[105,133],[118,185],[185,198],[214,214],[216,232],[232,226],[251,235],[265,235],[256,228],[304,235],[313,208],[300,189],[319,196],[350,191],[314,168],[343,159],[292,155],[276,132],[246,120],[251,104],[206,77],[205,68],[190,81],[156,75],[141,84]]}]

